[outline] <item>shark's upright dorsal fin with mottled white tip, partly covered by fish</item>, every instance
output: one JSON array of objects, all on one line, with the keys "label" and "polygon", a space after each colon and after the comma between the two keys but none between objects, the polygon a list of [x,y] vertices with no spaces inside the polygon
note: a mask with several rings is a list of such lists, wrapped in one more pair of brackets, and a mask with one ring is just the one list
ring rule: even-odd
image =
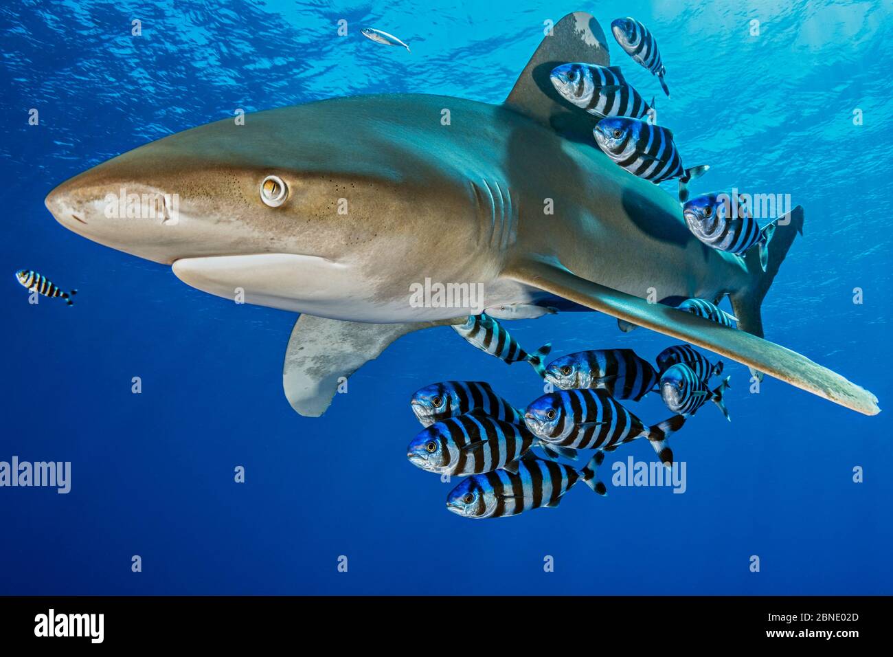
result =
[{"label": "shark's upright dorsal fin with mottled white tip, partly covered by fish", "polygon": [[505,105],[569,139],[591,141],[597,118],[569,107],[549,80],[555,66],[569,62],[611,63],[605,32],[586,12],[569,13],[555,23],[514,83]]}]

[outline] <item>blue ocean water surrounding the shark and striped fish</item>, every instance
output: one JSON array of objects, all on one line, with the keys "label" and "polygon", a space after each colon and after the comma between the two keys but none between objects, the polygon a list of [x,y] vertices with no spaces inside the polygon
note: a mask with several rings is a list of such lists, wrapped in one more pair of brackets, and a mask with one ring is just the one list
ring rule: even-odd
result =
[{"label": "blue ocean water surrounding the shark and striped fish", "polygon": [[[407,463],[420,428],[407,400],[426,383],[472,379],[526,404],[541,393],[529,366],[448,328],[413,333],[325,416],[299,417],[281,388],[295,316],[191,289],[169,267],[64,230],[44,206],[89,166],[236,108],[380,92],[501,102],[544,21],[575,10],[605,29],[632,15],[655,33],[672,100],[611,39],[613,63],[657,95],[688,161],[713,164],[696,190],[748,186],[805,206],[805,238],[764,303],[767,337],[887,406],[889,0],[6,3],[0,460],[71,461],[71,493],[0,488],[0,594],[893,593],[886,413],[771,379],[751,394],[747,368],[727,361],[733,421],[705,409],[673,442],[685,493],[609,484],[599,499],[580,486],[559,509],[472,522],[444,509],[455,479]],[[412,55],[363,38],[365,26]],[[76,305],[29,305],[13,279],[22,267],[78,288]],[[556,354],[654,358],[671,343],[595,313],[508,327]],[[666,414],[657,399],[634,408]],[[639,441],[607,463],[630,455],[654,456]]]}]

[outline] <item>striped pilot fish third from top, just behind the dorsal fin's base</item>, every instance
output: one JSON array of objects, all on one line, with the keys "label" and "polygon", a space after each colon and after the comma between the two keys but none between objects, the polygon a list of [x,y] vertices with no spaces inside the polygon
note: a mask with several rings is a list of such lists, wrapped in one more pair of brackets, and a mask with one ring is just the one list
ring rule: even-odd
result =
[{"label": "striped pilot fish third from top, just behind the dorsal fin's base", "polygon": [[672,132],[660,125],[609,116],[596,124],[592,134],[605,155],[633,175],[655,184],[678,178],[680,201],[689,198],[689,182],[710,168],[706,164],[684,168]]}]

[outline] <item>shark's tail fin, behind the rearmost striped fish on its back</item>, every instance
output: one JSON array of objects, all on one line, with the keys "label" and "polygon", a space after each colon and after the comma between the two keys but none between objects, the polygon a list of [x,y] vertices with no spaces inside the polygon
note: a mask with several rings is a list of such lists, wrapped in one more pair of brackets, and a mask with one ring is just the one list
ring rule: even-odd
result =
[{"label": "shark's tail fin, behind the rearmost striped fish on its back", "polygon": [[747,333],[753,333],[763,337],[763,317],[760,307],[775,274],[779,273],[779,267],[785,256],[788,255],[790,245],[794,243],[797,234],[803,234],[803,207],[797,206],[787,215],[780,216],[775,222],[775,231],[772,234],[772,248],[768,249],[765,260],[765,271],[761,264],[761,258],[745,258],[747,273],[750,274],[750,284],[747,288],[731,295],[731,307],[738,317],[738,327]]}]

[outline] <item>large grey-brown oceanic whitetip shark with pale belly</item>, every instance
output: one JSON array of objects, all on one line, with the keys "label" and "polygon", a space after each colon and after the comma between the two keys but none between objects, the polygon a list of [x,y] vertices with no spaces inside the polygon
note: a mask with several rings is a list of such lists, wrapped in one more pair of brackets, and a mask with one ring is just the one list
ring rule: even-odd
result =
[{"label": "large grey-brown oceanic whitetip shark with pale belly", "polygon": [[[588,13],[555,25],[502,105],[398,94],[250,114],[99,164],[46,206],[71,231],[171,265],[199,290],[234,299],[241,289],[249,303],[301,313],[283,382],[303,415],[321,415],[338,377],[401,335],[468,315],[414,307],[410,285],[426,278],[480,282],[484,307],[598,310],[878,413],[871,392],[762,337],[760,305],[803,208],[781,217],[765,272],[750,253],[742,262],[706,247],[669,193],[595,146],[595,117],[549,81],[567,62],[610,64]],[[178,216],[164,202],[146,218],[107,216],[120,190],[178,198]],[[649,289],[728,295],[740,330],[649,303]]]}]

